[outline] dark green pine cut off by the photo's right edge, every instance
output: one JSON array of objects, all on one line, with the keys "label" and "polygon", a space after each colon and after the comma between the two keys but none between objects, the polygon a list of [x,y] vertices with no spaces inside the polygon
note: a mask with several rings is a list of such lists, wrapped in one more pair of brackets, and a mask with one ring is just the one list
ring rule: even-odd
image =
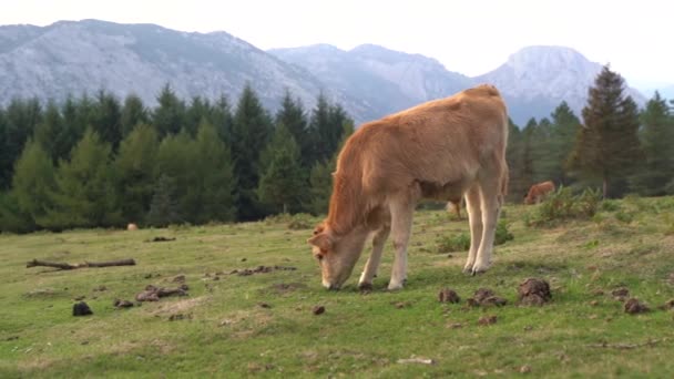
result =
[{"label": "dark green pine cut off by the photo's right edge", "polygon": [[667,194],[674,178],[674,120],[664,99],[655,92],[641,114],[645,164],[633,177],[635,190],[647,196]]}]

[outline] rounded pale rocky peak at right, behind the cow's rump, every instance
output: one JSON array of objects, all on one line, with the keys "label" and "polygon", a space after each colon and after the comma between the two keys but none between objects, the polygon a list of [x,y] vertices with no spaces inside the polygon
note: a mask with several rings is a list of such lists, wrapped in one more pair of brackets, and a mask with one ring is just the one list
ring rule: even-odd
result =
[{"label": "rounded pale rocky peak at right, behind the cow's rump", "polygon": [[[588,89],[601,70],[601,64],[570,48],[529,47],[473,80],[494,84],[506,98],[511,117],[523,125],[532,116],[549,116],[562,101],[580,115]],[[626,90],[640,105],[645,102],[639,91]]]}]

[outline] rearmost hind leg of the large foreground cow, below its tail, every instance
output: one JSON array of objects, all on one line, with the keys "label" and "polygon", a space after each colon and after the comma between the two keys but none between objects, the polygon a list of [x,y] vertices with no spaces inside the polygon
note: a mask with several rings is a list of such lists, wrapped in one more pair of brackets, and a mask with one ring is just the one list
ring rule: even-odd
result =
[{"label": "rearmost hind leg of the large foreground cow, below its tail", "polygon": [[497,222],[501,211],[501,181],[498,175],[489,176],[480,181],[480,205],[482,208],[482,240],[478,248],[472,274],[486,272],[491,265],[491,253],[496,236]]}]

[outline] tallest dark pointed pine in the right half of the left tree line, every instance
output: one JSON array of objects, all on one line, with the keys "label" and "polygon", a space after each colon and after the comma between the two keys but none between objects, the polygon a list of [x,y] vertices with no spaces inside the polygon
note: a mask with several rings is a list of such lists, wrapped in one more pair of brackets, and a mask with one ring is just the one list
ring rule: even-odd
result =
[{"label": "tallest dark pointed pine in the right half of the left tree line", "polygon": [[259,182],[259,154],[272,134],[272,122],[249,84],[244,88],[236,105],[233,126],[232,153],[238,178],[236,208],[239,219],[257,219],[264,216],[256,195]]}]

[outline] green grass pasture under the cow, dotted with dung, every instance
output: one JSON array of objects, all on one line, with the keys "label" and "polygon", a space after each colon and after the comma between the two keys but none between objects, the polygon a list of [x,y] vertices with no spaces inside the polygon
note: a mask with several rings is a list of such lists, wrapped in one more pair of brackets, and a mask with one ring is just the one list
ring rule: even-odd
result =
[{"label": "green grass pasture under the cow, dotted with dung", "polygon": [[[612,202],[590,221],[528,227],[523,221],[535,207],[506,207],[514,239],[498,246],[492,268],[477,277],[461,273],[466,252],[449,258],[438,253],[438,239],[467,233],[467,221],[417,212],[408,283],[396,293],[386,290],[390,242],[374,291],[356,289],[358,272],[343,290],[325,290],[306,245],[312,231],[293,218],[1,235],[0,377],[511,377],[522,366],[535,378],[671,377],[674,320],[657,306],[674,298],[674,198]],[[155,236],[176,239],[145,242]],[[134,258],[137,265],[25,268],[33,258]],[[218,272],[259,265],[297,269],[213,279]],[[188,297],[114,309],[115,298],[132,300],[149,284],[175,286],[171,279],[178,274],[186,276]],[[528,277],[551,284],[551,304],[515,305],[517,286]],[[610,296],[620,286],[654,310],[624,314]],[[440,304],[443,287],[463,300],[489,287],[509,304]],[[71,316],[79,296],[93,316]],[[312,313],[317,305],[325,314]],[[183,319],[170,320],[178,314]],[[487,315],[498,321],[479,326]],[[633,348],[619,348],[624,345]],[[412,356],[435,365],[397,362]]]}]

